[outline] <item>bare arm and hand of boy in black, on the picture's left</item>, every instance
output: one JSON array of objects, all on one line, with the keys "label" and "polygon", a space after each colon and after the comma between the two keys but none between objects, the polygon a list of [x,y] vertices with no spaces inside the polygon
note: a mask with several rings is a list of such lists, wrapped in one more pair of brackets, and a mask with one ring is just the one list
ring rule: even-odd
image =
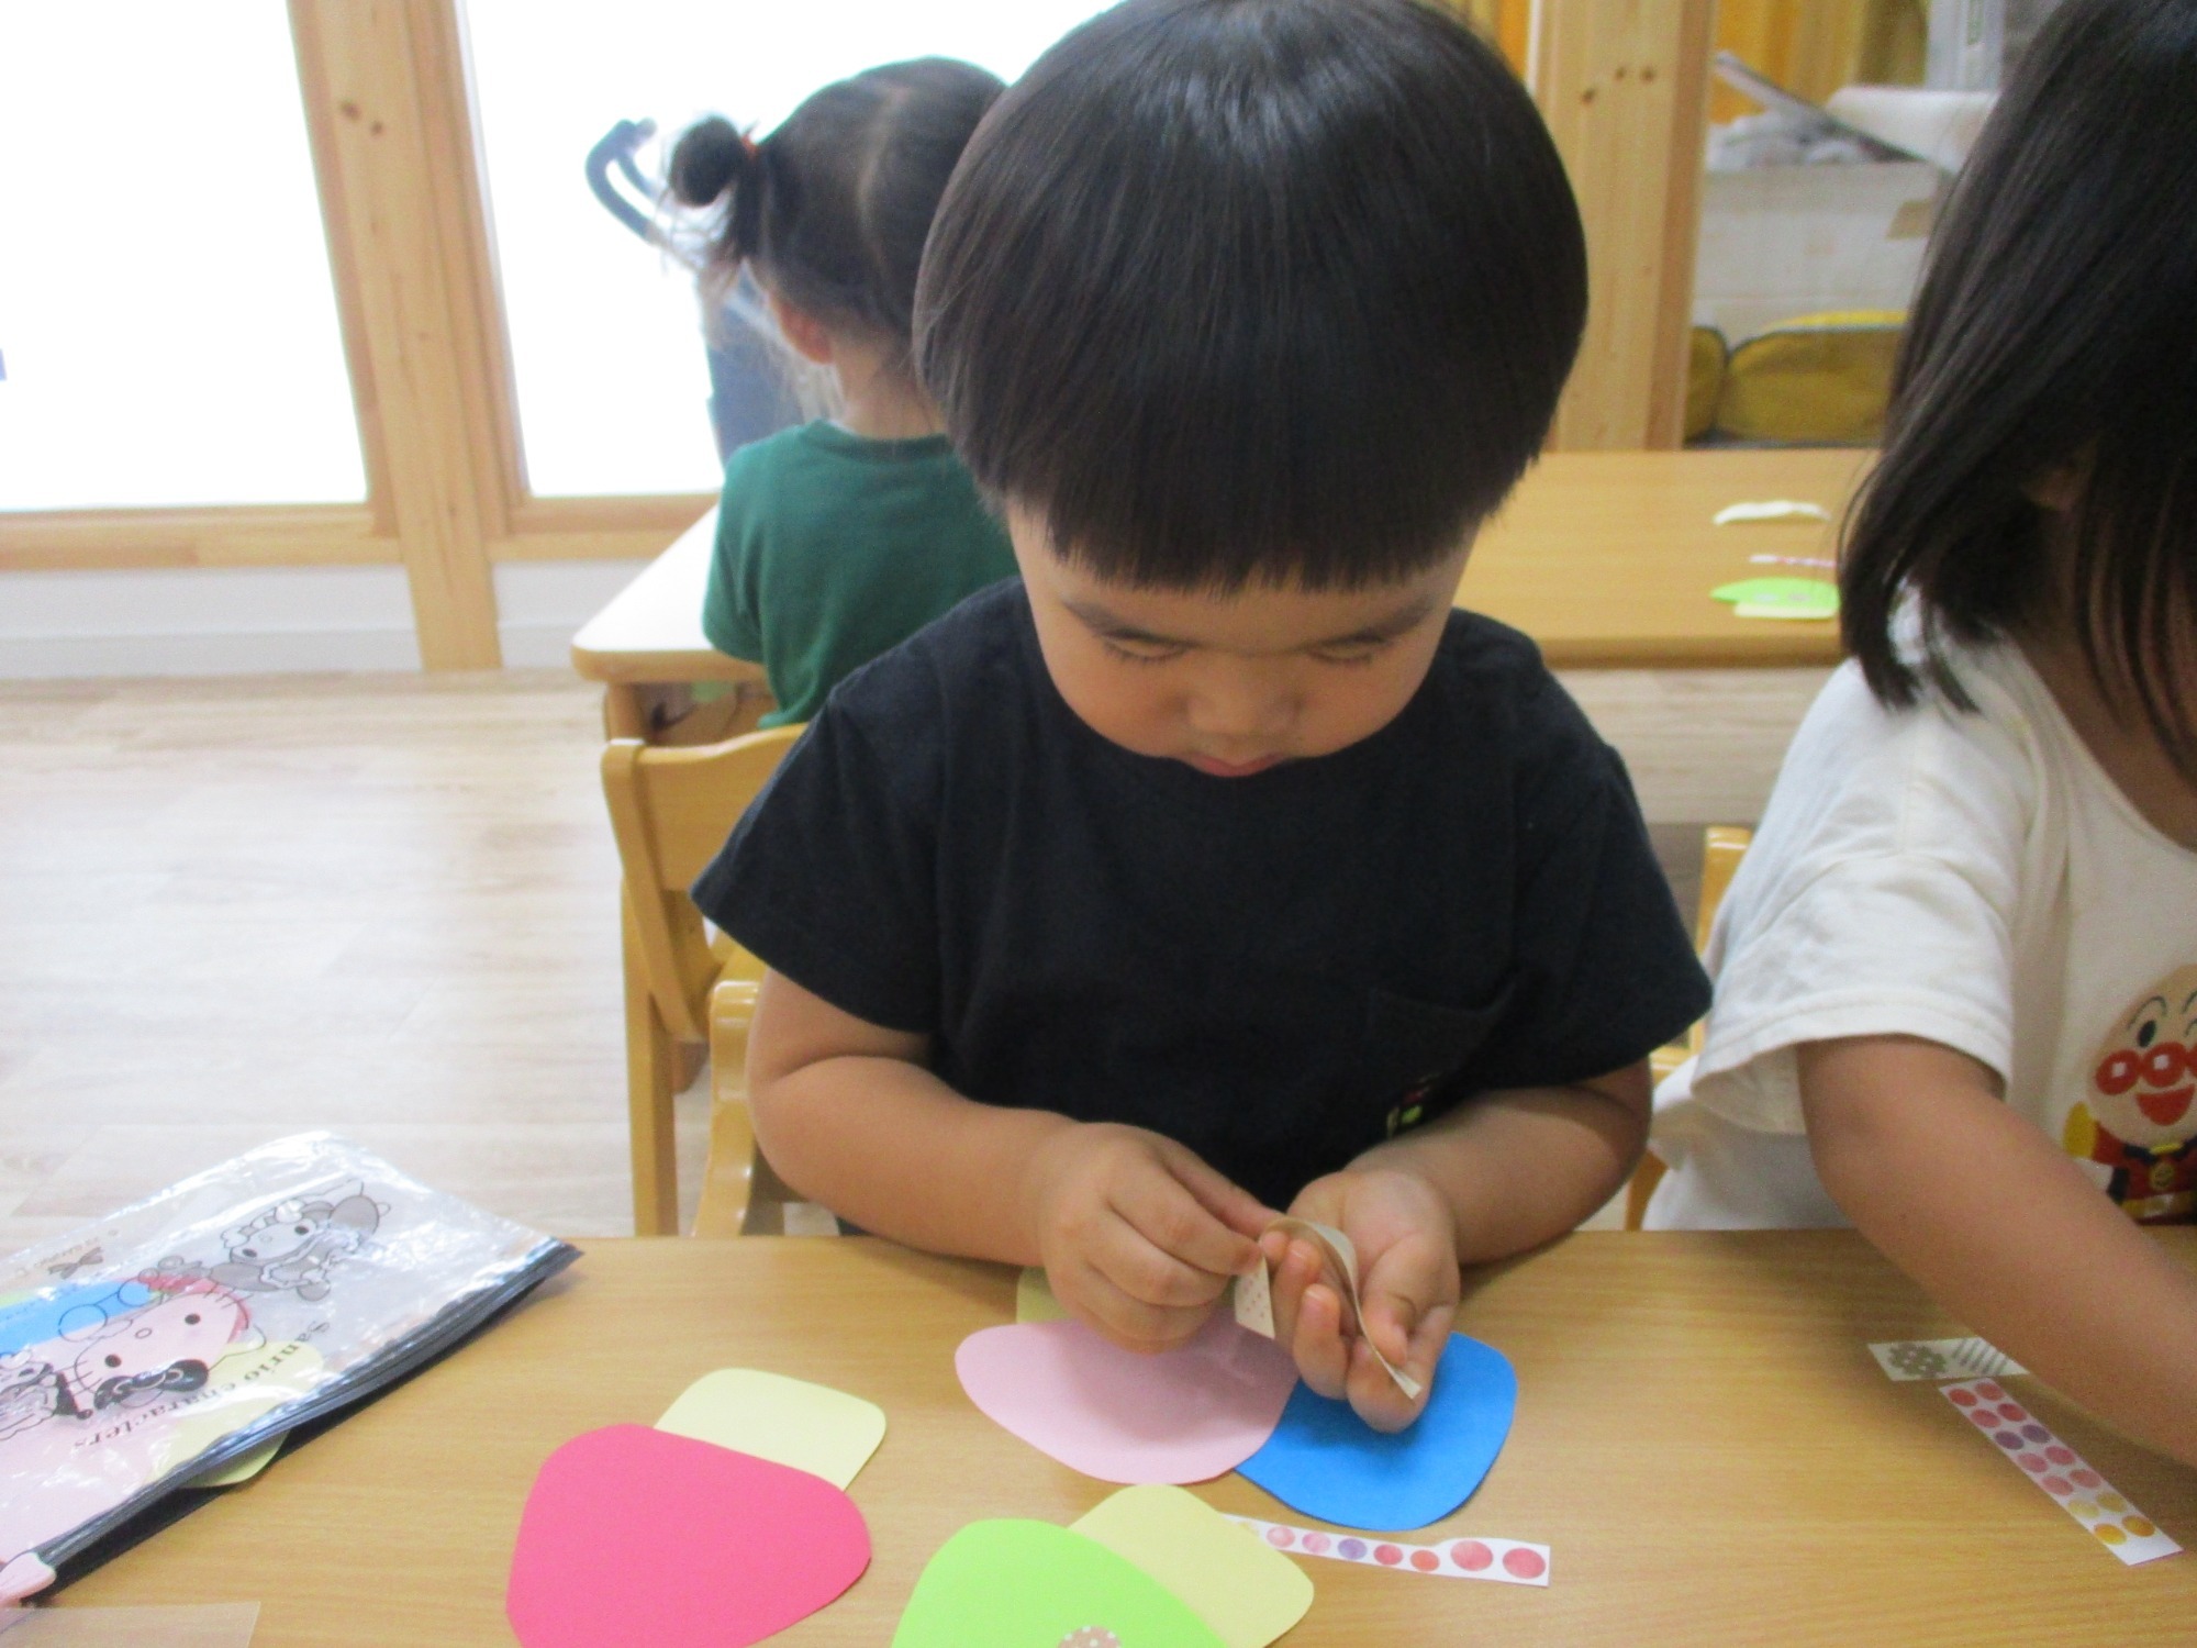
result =
[{"label": "bare arm and hand of boy in black, on the picture's left", "polygon": [[962,1099],[923,1035],[767,973],[747,1042],[756,1138],[835,1213],[932,1252],[1041,1263],[1077,1316],[1167,1349],[1257,1259],[1272,1209],[1138,1127]]}]

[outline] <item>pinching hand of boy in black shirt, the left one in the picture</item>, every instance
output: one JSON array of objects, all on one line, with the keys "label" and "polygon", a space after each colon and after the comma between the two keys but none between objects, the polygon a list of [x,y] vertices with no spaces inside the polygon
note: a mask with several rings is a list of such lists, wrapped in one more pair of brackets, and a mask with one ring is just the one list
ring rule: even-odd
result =
[{"label": "pinching hand of boy in black shirt, the left one in the picture", "polygon": [[1030,1217],[1052,1296],[1116,1345],[1164,1351],[1252,1268],[1274,1211],[1171,1138],[1088,1123],[1033,1156]]}]

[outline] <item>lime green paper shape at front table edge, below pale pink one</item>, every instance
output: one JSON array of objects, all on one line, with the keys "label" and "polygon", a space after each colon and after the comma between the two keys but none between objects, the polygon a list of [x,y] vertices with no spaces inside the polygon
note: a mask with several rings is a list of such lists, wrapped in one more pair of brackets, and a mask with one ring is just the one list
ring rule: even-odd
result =
[{"label": "lime green paper shape at front table edge, below pale pink one", "polygon": [[969,1523],[938,1547],[892,1648],[1226,1648],[1164,1584],[1098,1540],[1052,1523]]}]

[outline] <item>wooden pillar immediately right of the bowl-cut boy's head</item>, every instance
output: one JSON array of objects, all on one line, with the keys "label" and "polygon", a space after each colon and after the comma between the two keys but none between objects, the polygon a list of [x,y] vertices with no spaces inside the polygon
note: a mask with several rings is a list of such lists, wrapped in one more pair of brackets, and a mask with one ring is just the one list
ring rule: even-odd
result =
[{"label": "wooden pillar immediately right of the bowl-cut boy's head", "polygon": [[1536,0],[1527,79],[1586,220],[1588,316],[1553,448],[1679,446],[1714,0]]}]

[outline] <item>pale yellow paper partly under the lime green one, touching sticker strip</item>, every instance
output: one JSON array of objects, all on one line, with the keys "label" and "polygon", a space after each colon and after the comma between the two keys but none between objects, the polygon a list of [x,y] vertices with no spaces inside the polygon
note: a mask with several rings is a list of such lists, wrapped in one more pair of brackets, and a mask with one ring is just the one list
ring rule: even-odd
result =
[{"label": "pale yellow paper partly under the lime green one, touching sticker strip", "polygon": [[1312,1580],[1180,1488],[1123,1488],[1070,1523],[1173,1591],[1228,1648],[1265,1648],[1312,1608]]}]

